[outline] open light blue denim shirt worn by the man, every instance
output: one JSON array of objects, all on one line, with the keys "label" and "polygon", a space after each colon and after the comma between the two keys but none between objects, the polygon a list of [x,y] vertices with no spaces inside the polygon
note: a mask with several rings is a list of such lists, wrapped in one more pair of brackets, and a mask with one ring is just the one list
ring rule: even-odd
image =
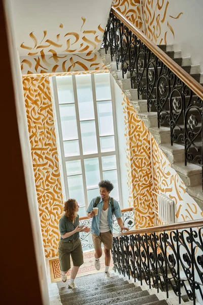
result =
[{"label": "open light blue denim shirt worn by the man", "polygon": [[[93,210],[94,203],[96,201],[96,197],[92,199],[90,202],[87,213],[90,213]],[[91,225],[91,233],[100,235],[99,231],[99,222],[100,222],[100,215],[101,215],[101,210],[103,209],[104,202],[102,198],[100,197],[99,203],[97,204],[96,207],[98,207],[98,214],[93,217],[92,219],[92,225]],[[120,209],[120,206],[118,204],[118,201],[114,199],[114,215],[116,218],[122,217],[122,212]],[[108,208],[108,216],[107,216],[107,221],[110,226],[110,230],[113,233],[113,214],[112,214],[112,208],[111,208],[111,203],[110,203],[110,197],[109,197],[109,208]]]}]

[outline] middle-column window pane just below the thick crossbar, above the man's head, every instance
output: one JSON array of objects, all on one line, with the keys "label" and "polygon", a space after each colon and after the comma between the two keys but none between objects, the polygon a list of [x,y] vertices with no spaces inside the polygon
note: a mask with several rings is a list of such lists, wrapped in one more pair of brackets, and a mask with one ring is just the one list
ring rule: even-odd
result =
[{"label": "middle-column window pane just below the thick crossbar, above the man's head", "polygon": [[85,159],[84,163],[87,189],[97,188],[100,181],[98,158]]}]

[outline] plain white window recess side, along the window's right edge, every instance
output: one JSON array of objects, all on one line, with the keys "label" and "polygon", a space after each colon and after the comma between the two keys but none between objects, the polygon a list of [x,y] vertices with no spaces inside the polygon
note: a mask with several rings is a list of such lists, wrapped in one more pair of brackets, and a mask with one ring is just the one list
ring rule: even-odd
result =
[{"label": "plain white window recess side, along the window's right edge", "polygon": [[[122,203],[123,208],[129,207],[128,198],[129,190],[127,186],[127,167],[126,167],[126,138],[125,138],[125,125],[124,125],[124,113],[123,113],[123,96],[122,90],[115,82],[113,76],[110,74],[113,88],[114,88],[114,99],[116,108],[116,123],[118,133],[118,149],[119,149],[119,163],[120,163],[120,178],[122,186]],[[113,93],[112,93],[113,95]]]}]

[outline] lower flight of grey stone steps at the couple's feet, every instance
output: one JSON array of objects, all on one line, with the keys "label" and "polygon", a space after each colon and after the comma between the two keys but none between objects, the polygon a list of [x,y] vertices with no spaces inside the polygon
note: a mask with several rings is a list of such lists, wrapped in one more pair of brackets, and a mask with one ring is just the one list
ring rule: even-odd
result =
[{"label": "lower flight of grey stone steps at the couple's feet", "polygon": [[[157,293],[157,289],[149,289],[147,285],[140,282],[134,283],[134,280],[128,280],[119,275],[111,273],[109,279],[104,279],[104,272],[94,275],[84,276],[75,280],[78,288],[70,290],[67,283],[58,282],[60,301],[56,297],[51,299],[50,305],[176,305],[178,298],[173,292],[170,292],[169,298],[165,299],[165,293]],[[184,302],[184,301],[183,301]],[[187,302],[191,305],[193,302]]]}]

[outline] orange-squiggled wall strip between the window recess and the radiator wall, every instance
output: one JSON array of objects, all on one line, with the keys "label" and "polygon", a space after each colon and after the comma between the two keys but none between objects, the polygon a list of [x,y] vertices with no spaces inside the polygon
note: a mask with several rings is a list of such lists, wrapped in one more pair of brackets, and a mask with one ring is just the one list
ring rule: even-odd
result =
[{"label": "orange-squiggled wall strip between the window recess and the radiator wall", "polygon": [[123,97],[126,137],[127,184],[133,203],[136,228],[154,225],[154,202],[152,200],[152,169],[149,132],[129,100]]}]

